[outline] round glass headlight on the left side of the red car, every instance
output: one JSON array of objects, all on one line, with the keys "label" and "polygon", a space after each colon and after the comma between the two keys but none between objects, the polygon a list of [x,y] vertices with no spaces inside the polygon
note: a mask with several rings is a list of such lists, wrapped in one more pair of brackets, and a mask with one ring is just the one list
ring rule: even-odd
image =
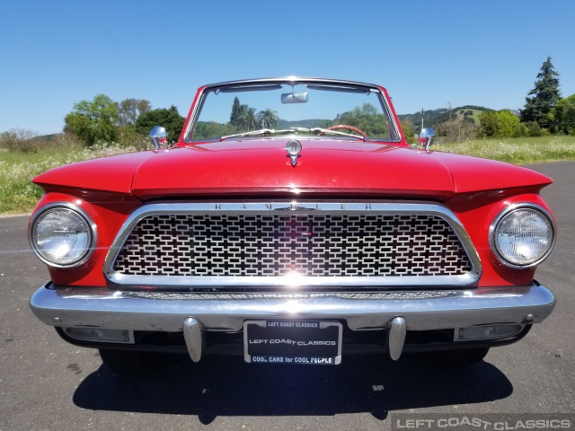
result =
[{"label": "round glass headlight on the left side of the red car", "polygon": [[95,233],[88,216],[71,205],[43,208],[31,221],[32,249],[53,267],[73,267],[93,251]]}]

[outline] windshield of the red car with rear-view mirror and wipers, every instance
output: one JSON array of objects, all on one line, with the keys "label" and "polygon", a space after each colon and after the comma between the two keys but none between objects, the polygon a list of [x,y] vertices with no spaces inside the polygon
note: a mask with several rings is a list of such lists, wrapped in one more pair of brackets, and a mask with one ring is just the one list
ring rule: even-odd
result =
[{"label": "windshield of the red car with rear-view mirror and wipers", "polygon": [[186,141],[313,135],[398,140],[376,89],[343,84],[249,83],[208,89]]}]

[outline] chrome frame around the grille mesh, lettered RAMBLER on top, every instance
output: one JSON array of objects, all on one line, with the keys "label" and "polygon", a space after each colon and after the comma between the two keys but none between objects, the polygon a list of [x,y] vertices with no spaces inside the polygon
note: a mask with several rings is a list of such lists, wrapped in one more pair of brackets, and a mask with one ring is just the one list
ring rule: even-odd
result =
[{"label": "chrome frame around the grille mesh, lettered RAMBLER on top", "polygon": [[[406,277],[188,277],[188,276],[126,276],[114,271],[113,266],[124,242],[137,223],[146,216],[178,214],[243,214],[262,215],[273,211],[289,211],[296,214],[341,214],[341,212],[383,215],[426,215],[444,219],[461,241],[464,251],[471,260],[472,270],[461,276],[406,276]],[[170,286],[189,288],[191,286],[237,287],[242,286],[468,286],[475,283],[482,273],[479,254],[465,232],[463,224],[447,207],[429,203],[377,203],[377,202],[236,202],[199,204],[150,204],[139,207],[122,225],[104,261],[104,275],[111,283],[121,286]]]}]

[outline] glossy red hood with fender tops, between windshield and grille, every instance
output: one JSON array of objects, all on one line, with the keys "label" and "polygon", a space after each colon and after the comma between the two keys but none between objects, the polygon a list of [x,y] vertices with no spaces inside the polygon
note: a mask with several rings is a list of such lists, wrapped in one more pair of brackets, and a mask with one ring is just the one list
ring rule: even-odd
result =
[{"label": "glossy red hood with fender tops, between windshield and grille", "polygon": [[239,139],[121,154],[66,165],[34,182],[129,193],[137,198],[186,196],[333,196],[433,198],[552,182],[525,168],[457,154],[358,140],[298,139],[296,166],[289,138]]}]

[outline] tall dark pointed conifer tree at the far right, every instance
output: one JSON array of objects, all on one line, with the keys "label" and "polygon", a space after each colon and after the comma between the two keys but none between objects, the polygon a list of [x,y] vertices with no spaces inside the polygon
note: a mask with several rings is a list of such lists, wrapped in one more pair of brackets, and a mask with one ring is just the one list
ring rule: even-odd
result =
[{"label": "tall dark pointed conifer tree at the far right", "polygon": [[548,125],[547,116],[561,100],[558,76],[551,57],[547,57],[541,66],[541,72],[537,74],[535,88],[526,97],[525,108],[521,110],[521,121],[528,124],[537,122],[539,126]]}]

